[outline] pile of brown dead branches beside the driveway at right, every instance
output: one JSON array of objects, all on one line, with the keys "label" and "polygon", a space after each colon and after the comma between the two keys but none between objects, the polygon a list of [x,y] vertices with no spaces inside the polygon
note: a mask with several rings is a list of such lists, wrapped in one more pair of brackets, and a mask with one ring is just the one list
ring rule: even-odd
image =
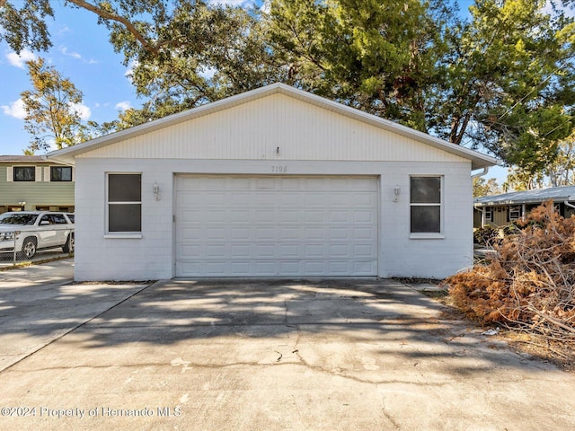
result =
[{"label": "pile of brown dead branches beside the driveway at right", "polygon": [[447,278],[456,306],[482,324],[575,342],[575,216],[559,216],[548,202],[496,251],[489,262]]}]

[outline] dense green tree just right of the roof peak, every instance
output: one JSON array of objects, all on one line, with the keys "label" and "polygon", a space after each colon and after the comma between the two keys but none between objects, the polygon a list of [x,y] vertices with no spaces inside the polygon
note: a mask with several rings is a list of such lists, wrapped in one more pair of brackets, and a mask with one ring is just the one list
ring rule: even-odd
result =
[{"label": "dense green tree just right of the roof peak", "polygon": [[273,49],[306,90],[427,131],[426,90],[440,79],[443,8],[419,0],[273,0]]}]

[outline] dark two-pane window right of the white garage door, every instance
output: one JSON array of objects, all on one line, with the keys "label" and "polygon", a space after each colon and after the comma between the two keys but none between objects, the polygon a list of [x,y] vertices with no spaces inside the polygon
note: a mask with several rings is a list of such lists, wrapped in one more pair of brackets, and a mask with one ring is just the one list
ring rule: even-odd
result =
[{"label": "dark two-pane window right of the white garage door", "polygon": [[411,233],[441,233],[441,177],[411,177]]}]

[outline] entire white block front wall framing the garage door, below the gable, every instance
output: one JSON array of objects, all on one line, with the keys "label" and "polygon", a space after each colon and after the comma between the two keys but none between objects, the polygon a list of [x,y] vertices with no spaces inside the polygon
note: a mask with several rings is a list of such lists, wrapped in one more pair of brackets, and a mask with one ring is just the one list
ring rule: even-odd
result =
[{"label": "entire white block front wall framing the garage door, below the gable", "polygon": [[[77,159],[75,279],[173,277],[174,175],[271,174],[272,161]],[[472,181],[469,162],[312,162],[283,160],[288,173],[378,175],[380,277],[447,277],[472,264]],[[142,238],[105,238],[106,172],[142,172]],[[410,175],[444,177],[444,238],[410,238]],[[161,200],[152,186],[157,181]],[[394,202],[394,188],[402,189]]]}]

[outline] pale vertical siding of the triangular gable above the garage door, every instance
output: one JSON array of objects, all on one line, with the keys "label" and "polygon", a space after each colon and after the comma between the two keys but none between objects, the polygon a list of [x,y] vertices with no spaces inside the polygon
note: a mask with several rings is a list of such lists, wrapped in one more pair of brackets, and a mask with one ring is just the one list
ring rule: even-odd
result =
[{"label": "pale vertical siding of the triangular gable above the garage door", "polygon": [[466,162],[409,137],[279,93],[78,158]]}]

